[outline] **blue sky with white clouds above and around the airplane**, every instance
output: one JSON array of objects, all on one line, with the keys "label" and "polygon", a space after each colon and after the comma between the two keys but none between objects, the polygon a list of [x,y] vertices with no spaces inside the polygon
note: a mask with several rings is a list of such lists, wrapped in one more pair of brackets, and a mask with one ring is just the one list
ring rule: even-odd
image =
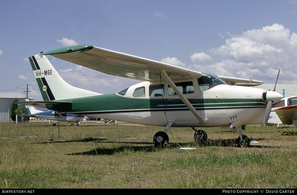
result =
[{"label": "blue sky with white clouds above and around the airplane", "polygon": [[[279,84],[297,84],[296,21],[297,0],[4,0],[0,92],[24,92],[29,84],[28,96],[42,100],[28,57],[70,45],[271,84],[280,68]],[[139,83],[50,62],[69,84],[102,94]]]}]

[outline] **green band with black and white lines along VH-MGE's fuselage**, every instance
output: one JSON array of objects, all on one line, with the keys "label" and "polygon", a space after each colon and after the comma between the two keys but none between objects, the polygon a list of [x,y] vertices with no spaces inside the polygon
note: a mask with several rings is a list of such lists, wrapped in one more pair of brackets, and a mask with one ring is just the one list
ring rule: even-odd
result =
[{"label": "green band with black and white lines along VH-MGE's fuselage", "polygon": [[[188,99],[196,110],[265,108],[263,99]],[[72,102],[72,107],[59,110],[50,106],[48,109],[75,114],[104,114],[146,111],[183,111],[189,110],[180,99],[137,99],[125,98],[116,94],[98,95],[84,98],[65,99],[59,101]]]}]

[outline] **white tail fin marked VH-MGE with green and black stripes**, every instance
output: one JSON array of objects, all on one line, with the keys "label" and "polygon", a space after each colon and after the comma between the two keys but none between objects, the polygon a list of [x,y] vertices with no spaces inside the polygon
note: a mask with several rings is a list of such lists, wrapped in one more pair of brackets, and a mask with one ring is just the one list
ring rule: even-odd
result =
[{"label": "white tail fin marked VH-MGE with green and black stripes", "polygon": [[102,95],[66,83],[46,56],[35,55],[29,60],[44,101]]}]

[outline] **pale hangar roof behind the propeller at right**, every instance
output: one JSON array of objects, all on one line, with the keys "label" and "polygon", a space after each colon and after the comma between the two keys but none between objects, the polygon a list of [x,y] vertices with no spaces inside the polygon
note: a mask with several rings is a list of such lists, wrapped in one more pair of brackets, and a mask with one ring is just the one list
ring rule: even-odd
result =
[{"label": "pale hangar roof behind the propeller at right", "polygon": [[[258,85],[257,88],[261,89],[270,89],[273,90],[275,84],[262,84]],[[277,87],[275,88],[275,91],[279,94],[283,95],[283,89],[285,89],[285,98],[297,95],[297,84],[277,84]]]}]

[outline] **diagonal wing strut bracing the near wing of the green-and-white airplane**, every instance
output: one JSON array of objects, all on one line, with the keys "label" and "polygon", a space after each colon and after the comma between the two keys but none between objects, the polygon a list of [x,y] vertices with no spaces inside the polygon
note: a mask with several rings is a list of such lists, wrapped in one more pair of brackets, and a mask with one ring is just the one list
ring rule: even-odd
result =
[{"label": "diagonal wing strut bracing the near wing of the green-and-white airplane", "polygon": [[190,111],[195,115],[195,117],[198,119],[199,123],[206,123],[208,122],[208,119],[203,119],[201,115],[197,112],[197,110],[194,108],[194,106],[189,102],[189,100],[178,90],[176,85],[173,83],[173,81],[169,78],[169,76],[165,73],[165,70],[160,70],[161,75],[163,78],[167,81],[167,83],[172,87],[174,92],[178,95],[179,98],[186,104],[186,106],[190,109]]}]

